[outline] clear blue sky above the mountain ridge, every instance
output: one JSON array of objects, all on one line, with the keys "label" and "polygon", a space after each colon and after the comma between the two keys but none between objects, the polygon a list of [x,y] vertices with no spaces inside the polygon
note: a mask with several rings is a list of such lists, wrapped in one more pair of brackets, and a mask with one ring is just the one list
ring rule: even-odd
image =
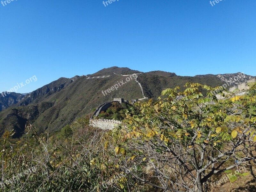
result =
[{"label": "clear blue sky above the mountain ridge", "polygon": [[0,18],[0,92],[112,66],[256,76],[255,0],[14,0]]}]

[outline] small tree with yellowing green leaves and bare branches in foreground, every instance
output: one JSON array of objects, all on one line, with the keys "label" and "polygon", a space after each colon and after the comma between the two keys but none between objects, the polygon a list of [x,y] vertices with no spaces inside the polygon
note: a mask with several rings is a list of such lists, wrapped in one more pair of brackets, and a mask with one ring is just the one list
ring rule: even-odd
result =
[{"label": "small tree with yellowing green leaves and bare branches in foreground", "polygon": [[[116,151],[127,149],[122,164],[142,183],[206,192],[213,175],[255,163],[256,96],[222,93],[225,99],[217,100],[212,91],[218,87],[185,87],[164,90],[157,102],[139,103],[138,116],[127,114]],[[137,168],[130,168],[134,164]]]}]

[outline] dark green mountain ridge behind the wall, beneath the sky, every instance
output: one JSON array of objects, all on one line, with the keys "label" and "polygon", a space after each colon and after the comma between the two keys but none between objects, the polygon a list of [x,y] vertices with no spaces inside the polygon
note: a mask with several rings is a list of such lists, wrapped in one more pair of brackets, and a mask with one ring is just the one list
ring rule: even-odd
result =
[{"label": "dark green mountain ridge behind the wall, beneath the sky", "polygon": [[[166,88],[180,86],[183,89],[183,85],[189,81],[216,87],[224,84],[223,80],[234,78],[232,75],[177,76],[175,73],[164,71],[144,73],[118,67],[104,68],[89,75],[95,78],[89,78],[89,76],[61,77],[26,96],[20,96],[21,99],[10,103],[9,107],[0,112],[0,135],[5,130],[14,129],[15,137],[21,137],[24,133],[24,124],[27,121],[36,126],[39,132],[58,131],[79,116],[90,115],[93,108],[97,108],[103,102],[114,98],[124,98],[125,100],[143,98],[140,85],[135,78],[118,86],[114,91],[102,94],[114,85],[118,85],[118,82],[126,81],[125,79],[129,77],[127,75],[134,73],[138,74],[137,80],[140,82],[145,96],[153,99],[157,99]],[[233,74],[233,76],[235,75],[237,74]],[[240,75],[239,81],[245,81],[247,78],[250,76]],[[1,105],[2,99],[0,98]]]}]

